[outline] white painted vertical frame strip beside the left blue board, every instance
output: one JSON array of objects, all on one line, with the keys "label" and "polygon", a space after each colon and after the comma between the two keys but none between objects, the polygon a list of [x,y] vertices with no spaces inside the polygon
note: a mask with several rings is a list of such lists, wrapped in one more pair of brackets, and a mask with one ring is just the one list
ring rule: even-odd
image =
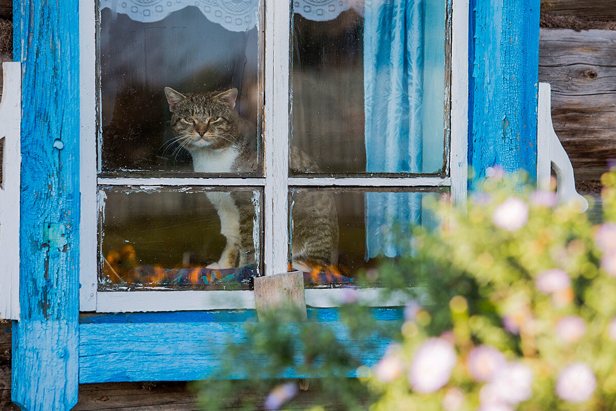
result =
[{"label": "white painted vertical frame strip beside the left blue board", "polygon": [[79,0],[79,309],[94,311],[97,293],[97,130],[95,2]]}]

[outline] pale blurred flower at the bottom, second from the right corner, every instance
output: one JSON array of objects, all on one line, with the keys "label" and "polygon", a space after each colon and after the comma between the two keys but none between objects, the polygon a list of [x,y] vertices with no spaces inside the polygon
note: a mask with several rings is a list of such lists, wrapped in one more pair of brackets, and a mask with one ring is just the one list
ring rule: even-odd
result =
[{"label": "pale blurred flower at the bottom, second from the right corner", "polygon": [[509,362],[496,372],[492,382],[494,395],[506,404],[518,404],[532,396],[533,372],[521,362]]}]

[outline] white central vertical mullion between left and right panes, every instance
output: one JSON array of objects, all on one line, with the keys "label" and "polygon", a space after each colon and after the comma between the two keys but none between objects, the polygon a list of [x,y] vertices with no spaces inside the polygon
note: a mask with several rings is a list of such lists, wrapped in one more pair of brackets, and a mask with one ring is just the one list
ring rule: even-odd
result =
[{"label": "white central vertical mullion between left and right panes", "polygon": [[265,273],[287,271],[289,27],[288,0],[265,4]]}]

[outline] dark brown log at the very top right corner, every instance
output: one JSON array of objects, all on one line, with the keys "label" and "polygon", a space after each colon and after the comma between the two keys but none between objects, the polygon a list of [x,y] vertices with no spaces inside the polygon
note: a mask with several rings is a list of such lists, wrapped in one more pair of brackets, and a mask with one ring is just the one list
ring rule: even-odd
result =
[{"label": "dark brown log at the very top right corner", "polygon": [[575,15],[594,20],[616,20],[614,0],[541,0],[541,12]]}]

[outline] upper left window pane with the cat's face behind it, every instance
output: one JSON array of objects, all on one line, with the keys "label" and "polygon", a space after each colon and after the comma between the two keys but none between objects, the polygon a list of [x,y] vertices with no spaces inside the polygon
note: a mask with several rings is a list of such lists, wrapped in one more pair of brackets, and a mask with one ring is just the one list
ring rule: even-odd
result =
[{"label": "upper left window pane with the cat's face behind it", "polygon": [[99,1],[100,171],[262,174],[259,8]]}]

